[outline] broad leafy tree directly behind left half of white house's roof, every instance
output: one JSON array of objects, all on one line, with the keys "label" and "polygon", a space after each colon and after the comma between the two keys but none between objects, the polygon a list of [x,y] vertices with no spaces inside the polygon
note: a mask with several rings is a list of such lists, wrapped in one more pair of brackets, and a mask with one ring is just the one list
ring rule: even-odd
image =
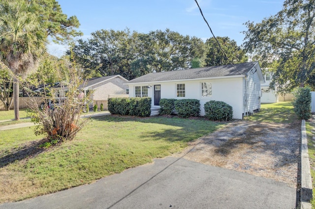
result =
[{"label": "broad leafy tree directly behind left half of white house's roof", "polygon": [[195,57],[202,56],[203,42],[178,32],[156,30],[139,37],[142,47],[139,52],[150,72],[182,70],[191,67]]}]

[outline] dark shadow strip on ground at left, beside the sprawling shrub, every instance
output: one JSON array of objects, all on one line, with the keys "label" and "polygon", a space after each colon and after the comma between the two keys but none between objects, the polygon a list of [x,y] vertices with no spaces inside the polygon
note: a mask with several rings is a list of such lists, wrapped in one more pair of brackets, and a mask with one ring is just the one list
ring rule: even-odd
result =
[{"label": "dark shadow strip on ground at left, beside the sprawling shrub", "polygon": [[39,141],[31,141],[22,144],[18,148],[3,151],[3,153],[0,153],[0,168],[16,160],[23,160],[36,157],[40,153],[47,151],[47,149],[45,148],[39,148],[39,145],[44,144],[46,141],[47,141],[46,139],[41,139]]}]

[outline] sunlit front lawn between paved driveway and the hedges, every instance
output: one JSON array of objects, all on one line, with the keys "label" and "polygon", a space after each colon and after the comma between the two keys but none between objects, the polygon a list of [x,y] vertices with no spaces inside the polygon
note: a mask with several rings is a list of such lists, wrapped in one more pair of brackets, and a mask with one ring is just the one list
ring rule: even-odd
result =
[{"label": "sunlit front lawn between paved driveway and the hedges", "polygon": [[[180,152],[187,142],[222,126],[177,117],[102,116],[88,120],[91,122],[74,140],[44,152],[34,152],[38,143],[30,143],[36,139],[32,128],[1,131],[0,137],[6,138],[3,142],[1,138],[0,144],[0,203],[93,183],[153,158]],[[24,134],[15,135],[20,132]],[[22,159],[3,163],[16,153]]]}]

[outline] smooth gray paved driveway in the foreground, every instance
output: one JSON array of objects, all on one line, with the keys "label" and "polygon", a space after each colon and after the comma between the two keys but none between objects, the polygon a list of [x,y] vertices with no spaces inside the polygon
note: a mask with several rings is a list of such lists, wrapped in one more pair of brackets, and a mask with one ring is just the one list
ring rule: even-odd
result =
[{"label": "smooth gray paved driveway in the foreground", "polygon": [[167,157],[0,209],[293,209],[295,204],[296,189],[286,183]]}]

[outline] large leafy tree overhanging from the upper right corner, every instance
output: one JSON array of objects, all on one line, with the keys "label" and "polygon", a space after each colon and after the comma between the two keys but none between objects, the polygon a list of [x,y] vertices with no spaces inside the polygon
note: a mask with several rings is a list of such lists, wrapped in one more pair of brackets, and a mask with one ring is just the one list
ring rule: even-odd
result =
[{"label": "large leafy tree overhanging from the upper right corner", "polygon": [[247,22],[244,47],[273,72],[271,87],[290,92],[315,86],[315,1],[285,0],[283,9],[260,23]]}]

